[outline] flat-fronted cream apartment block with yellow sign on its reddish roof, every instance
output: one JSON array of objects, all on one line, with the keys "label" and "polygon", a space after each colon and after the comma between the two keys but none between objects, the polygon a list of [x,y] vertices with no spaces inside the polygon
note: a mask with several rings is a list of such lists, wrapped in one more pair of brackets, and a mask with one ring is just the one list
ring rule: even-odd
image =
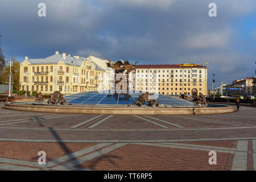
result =
[{"label": "flat-fronted cream apartment block with yellow sign on its reddish roof", "polygon": [[133,90],[166,95],[207,94],[208,67],[200,64],[138,65]]}]

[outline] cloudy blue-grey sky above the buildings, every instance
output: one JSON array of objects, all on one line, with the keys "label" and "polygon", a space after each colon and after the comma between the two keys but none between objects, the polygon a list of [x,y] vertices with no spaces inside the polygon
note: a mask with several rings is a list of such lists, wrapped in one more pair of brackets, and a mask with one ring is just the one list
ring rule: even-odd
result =
[{"label": "cloudy blue-grey sky above the buildings", "polygon": [[[46,4],[46,17],[38,4]],[[216,3],[217,16],[208,7]],[[205,64],[208,87],[255,76],[255,0],[1,0],[6,58],[55,51],[138,64]]]}]

